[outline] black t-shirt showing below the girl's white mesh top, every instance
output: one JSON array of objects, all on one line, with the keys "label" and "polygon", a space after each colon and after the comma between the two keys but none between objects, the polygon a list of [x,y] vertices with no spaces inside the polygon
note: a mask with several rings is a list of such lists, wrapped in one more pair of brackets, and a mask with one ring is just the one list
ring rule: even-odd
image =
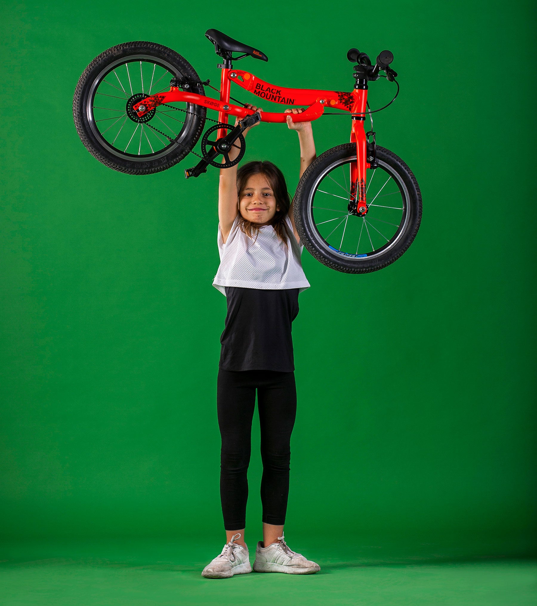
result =
[{"label": "black t-shirt showing below the girl's white mesh top", "polygon": [[299,313],[299,289],[226,286],[226,299],[220,368],[292,372],[291,324]]}]

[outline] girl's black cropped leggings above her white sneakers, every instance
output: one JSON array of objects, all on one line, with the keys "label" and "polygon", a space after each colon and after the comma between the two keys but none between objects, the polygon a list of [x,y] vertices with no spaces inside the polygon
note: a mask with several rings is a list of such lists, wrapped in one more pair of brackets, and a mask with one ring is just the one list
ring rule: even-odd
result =
[{"label": "girl's black cropped leggings above her white sneakers", "polygon": [[263,522],[283,525],[289,494],[289,442],[297,412],[294,373],[218,371],[218,425],[222,438],[220,498],[226,530],[246,526],[255,390],[261,427]]}]

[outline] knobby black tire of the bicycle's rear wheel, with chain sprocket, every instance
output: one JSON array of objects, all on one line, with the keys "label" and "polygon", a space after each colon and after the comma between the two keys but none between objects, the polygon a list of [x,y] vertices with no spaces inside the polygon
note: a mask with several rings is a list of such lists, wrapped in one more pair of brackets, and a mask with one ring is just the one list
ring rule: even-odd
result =
[{"label": "knobby black tire of the bicycle's rear wheel, with chain sprocket", "polygon": [[[194,67],[171,48],[155,44],[154,42],[125,42],[124,44],[118,44],[105,50],[93,59],[80,76],[73,98],[73,118],[81,141],[90,154],[98,159],[98,161],[109,168],[113,168],[113,170],[118,170],[128,175],[150,175],[171,168],[190,153],[203,132],[206,109],[200,105],[187,106],[189,112],[193,114],[184,114],[189,120],[188,128],[184,132],[181,130],[175,142],[173,144],[170,143],[169,146],[163,148],[158,153],[158,158],[146,157],[137,160],[135,158],[121,158],[112,153],[103,145],[101,138],[90,127],[86,112],[87,101],[91,94],[93,83],[100,74],[102,75],[103,70],[114,65],[118,59],[136,55],[149,56],[157,61],[166,61],[174,69],[175,73],[173,75],[178,78],[189,78],[194,81],[199,81],[200,79]],[[102,78],[104,77],[106,76],[102,76]],[[198,95],[205,94],[203,85],[201,84],[192,85],[190,90],[198,93]],[[93,94],[95,94],[95,90]]]}]

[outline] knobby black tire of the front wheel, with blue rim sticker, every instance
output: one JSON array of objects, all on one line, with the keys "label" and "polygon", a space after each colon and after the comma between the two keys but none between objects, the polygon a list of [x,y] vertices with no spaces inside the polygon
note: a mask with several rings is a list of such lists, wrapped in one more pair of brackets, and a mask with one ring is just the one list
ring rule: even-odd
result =
[{"label": "knobby black tire of the front wheel, with blue rim sticker", "polygon": [[[354,160],[356,160],[356,144],[354,143],[337,145],[337,147],[325,151],[325,153],[309,165],[300,179],[294,197],[294,219],[302,243],[317,261],[320,261],[326,267],[342,271],[343,273],[370,273],[397,261],[408,250],[414,238],[416,238],[422,216],[421,192],[416,177],[414,177],[407,164],[392,151],[377,145],[377,159],[388,164],[404,181],[408,190],[410,217],[405,230],[392,248],[385,251],[385,253],[380,253],[375,258],[353,258],[353,256],[345,258],[342,255],[333,253],[331,250],[326,250],[326,247],[322,245],[325,241],[322,240],[322,236],[320,236],[316,225],[309,218],[311,213],[308,213],[308,204],[313,200],[312,194],[315,192],[312,189],[315,187],[319,175],[332,165],[334,161],[339,161],[349,156],[354,156]],[[325,242],[325,244],[327,243]]]}]

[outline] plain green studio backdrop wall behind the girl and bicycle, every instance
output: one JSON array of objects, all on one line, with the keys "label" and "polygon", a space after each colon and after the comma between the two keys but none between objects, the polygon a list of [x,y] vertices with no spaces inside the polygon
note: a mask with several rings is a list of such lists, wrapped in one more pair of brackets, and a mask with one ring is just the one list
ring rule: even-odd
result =
[{"label": "plain green studio backdrop wall behind the girl and bicycle", "polygon": [[[382,271],[303,255],[288,533],[532,552],[532,3],[22,1],[1,21],[2,533],[221,533],[217,170],[186,181],[194,156],[152,176],[109,170],[71,107],[86,65],[130,40],[174,48],[214,84],[215,27],[269,56],[240,67],[296,87],[350,90],[348,48],[390,48],[401,93],[377,141],[424,199],[416,241]],[[392,90],[372,85],[372,106]],[[318,153],[349,130],[315,122]],[[256,128],[254,158],[294,190],[295,133]],[[255,424],[253,444],[251,534]]]}]

